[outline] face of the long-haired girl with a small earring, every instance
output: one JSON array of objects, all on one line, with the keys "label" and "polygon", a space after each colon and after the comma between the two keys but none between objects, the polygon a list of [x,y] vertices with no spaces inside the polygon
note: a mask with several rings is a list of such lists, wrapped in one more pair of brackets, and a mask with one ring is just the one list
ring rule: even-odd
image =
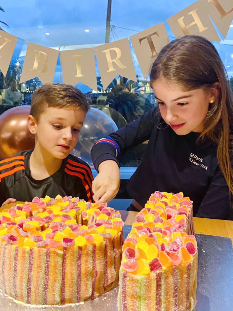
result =
[{"label": "face of the long-haired girl with a small earring", "polygon": [[217,96],[211,90],[182,91],[179,86],[165,79],[153,82],[162,118],[177,135],[202,132],[209,103],[211,100],[215,101]]}]

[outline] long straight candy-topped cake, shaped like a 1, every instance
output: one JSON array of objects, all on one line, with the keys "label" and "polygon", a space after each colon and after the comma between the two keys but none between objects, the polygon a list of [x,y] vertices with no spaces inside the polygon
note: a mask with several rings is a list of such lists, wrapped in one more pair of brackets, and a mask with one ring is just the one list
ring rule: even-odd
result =
[{"label": "long straight candy-topped cake, shaped like a 1", "polygon": [[153,193],[122,250],[119,311],[194,310],[198,253],[189,197]]}]

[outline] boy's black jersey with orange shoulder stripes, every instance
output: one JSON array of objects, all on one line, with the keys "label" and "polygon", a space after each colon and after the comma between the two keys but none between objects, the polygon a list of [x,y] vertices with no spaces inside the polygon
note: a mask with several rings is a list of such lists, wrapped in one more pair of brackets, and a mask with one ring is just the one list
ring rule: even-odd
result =
[{"label": "boy's black jersey with orange shoulder stripes", "polygon": [[93,177],[86,162],[69,155],[63,159],[61,168],[53,175],[35,180],[29,168],[32,151],[33,149],[21,151],[0,161],[0,206],[9,197],[17,201],[31,202],[34,197],[48,195],[55,198],[58,194],[93,202]]}]

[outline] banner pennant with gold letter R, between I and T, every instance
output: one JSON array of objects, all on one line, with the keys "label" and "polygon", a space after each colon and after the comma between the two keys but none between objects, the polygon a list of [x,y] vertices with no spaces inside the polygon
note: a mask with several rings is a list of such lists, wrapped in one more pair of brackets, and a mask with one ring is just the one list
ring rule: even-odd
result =
[{"label": "banner pennant with gold letter R, between I and T", "polygon": [[137,81],[127,38],[99,45],[95,55],[104,90],[117,75]]}]

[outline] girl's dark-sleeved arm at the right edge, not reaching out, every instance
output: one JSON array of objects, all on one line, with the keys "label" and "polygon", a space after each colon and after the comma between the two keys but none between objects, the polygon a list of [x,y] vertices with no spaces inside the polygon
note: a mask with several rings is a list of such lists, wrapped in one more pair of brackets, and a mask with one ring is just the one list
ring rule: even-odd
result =
[{"label": "girl's dark-sleeved arm at the right edge, not reaching out", "polygon": [[229,188],[219,169],[211,180],[208,191],[203,198],[195,217],[229,219],[231,203]]}]

